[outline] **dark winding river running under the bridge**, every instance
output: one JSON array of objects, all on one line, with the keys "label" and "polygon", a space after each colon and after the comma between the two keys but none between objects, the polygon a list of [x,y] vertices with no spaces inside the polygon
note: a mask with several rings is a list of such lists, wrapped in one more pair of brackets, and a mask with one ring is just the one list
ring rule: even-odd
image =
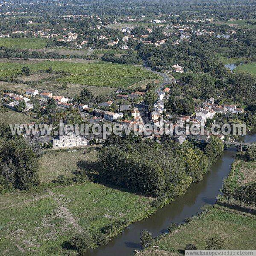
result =
[{"label": "dark winding river running under the bridge", "polygon": [[[244,142],[256,142],[256,134],[247,134],[241,138]],[[235,148],[225,150],[223,156],[212,165],[199,183],[193,183],[185,195],[175,198],[170,204],[157,209],[154,214],[142,221],[126,227],[121,234],[112,238],[104,246],[87,250],[85,256],[131,256],[134,250],[142,250],[140,236],[143,230],[149,231],[153,237],[167,233],[171,223],[181,224],[187,217],[201,212],[205,204],[215,204],[216,195],[227,177],[236,154]]]}]

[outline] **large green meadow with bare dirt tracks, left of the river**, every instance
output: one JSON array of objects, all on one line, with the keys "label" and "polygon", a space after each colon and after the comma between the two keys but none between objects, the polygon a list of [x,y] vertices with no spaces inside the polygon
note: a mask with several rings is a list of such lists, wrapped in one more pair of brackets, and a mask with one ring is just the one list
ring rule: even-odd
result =
[{"label": "large green meadow with bare dirt tracks, left of the river", "polygon": [[53,188],[33,196],[0,195],[0,254],[73,255],[61,244],[74,234],[97,230],[111,219],[142,218],[152,210],[150,202],[97,183]]}]

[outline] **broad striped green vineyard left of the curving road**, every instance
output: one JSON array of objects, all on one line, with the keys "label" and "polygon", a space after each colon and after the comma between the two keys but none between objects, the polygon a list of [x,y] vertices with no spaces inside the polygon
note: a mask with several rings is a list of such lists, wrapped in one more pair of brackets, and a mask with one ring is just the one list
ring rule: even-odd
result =
[{"label": "broad striped green vineyard left of the curving road", "polygon": [[[24,65],[23,63],[0,63],[0,77],[20,73]],[[99,87],[128,87],[147,78],[158,78],[156,74],[140,67],[104,61],[89,64],[41,61],[27,65],[32,71],[47,70],[48,67],[52,67],[56,71],[63,70],[71,73],[70,76],[62,77],[57,81]]]}]

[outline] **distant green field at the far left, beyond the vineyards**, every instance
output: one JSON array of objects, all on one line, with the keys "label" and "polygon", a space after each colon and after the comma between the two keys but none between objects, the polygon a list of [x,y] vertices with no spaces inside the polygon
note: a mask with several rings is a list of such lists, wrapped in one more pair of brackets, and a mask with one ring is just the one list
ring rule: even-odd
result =
[{"label": "distant green field at the far left, beyond the vineyards", "polygon": [[42,38],[0,38],[0,46],[21,49],[42,49],[46,46],[47,39]]}]

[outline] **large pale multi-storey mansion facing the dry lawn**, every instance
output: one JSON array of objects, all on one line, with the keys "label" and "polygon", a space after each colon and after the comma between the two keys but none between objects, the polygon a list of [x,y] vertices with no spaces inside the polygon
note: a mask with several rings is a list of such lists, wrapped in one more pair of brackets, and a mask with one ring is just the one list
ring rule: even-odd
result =
[{"label": "large pale multi-storey mansion facing the dry lawn", "polygon": [[53,148],[72,148],[87,145],[86,136],[82,135],[59,135],[58,139],[53,139]]}]

